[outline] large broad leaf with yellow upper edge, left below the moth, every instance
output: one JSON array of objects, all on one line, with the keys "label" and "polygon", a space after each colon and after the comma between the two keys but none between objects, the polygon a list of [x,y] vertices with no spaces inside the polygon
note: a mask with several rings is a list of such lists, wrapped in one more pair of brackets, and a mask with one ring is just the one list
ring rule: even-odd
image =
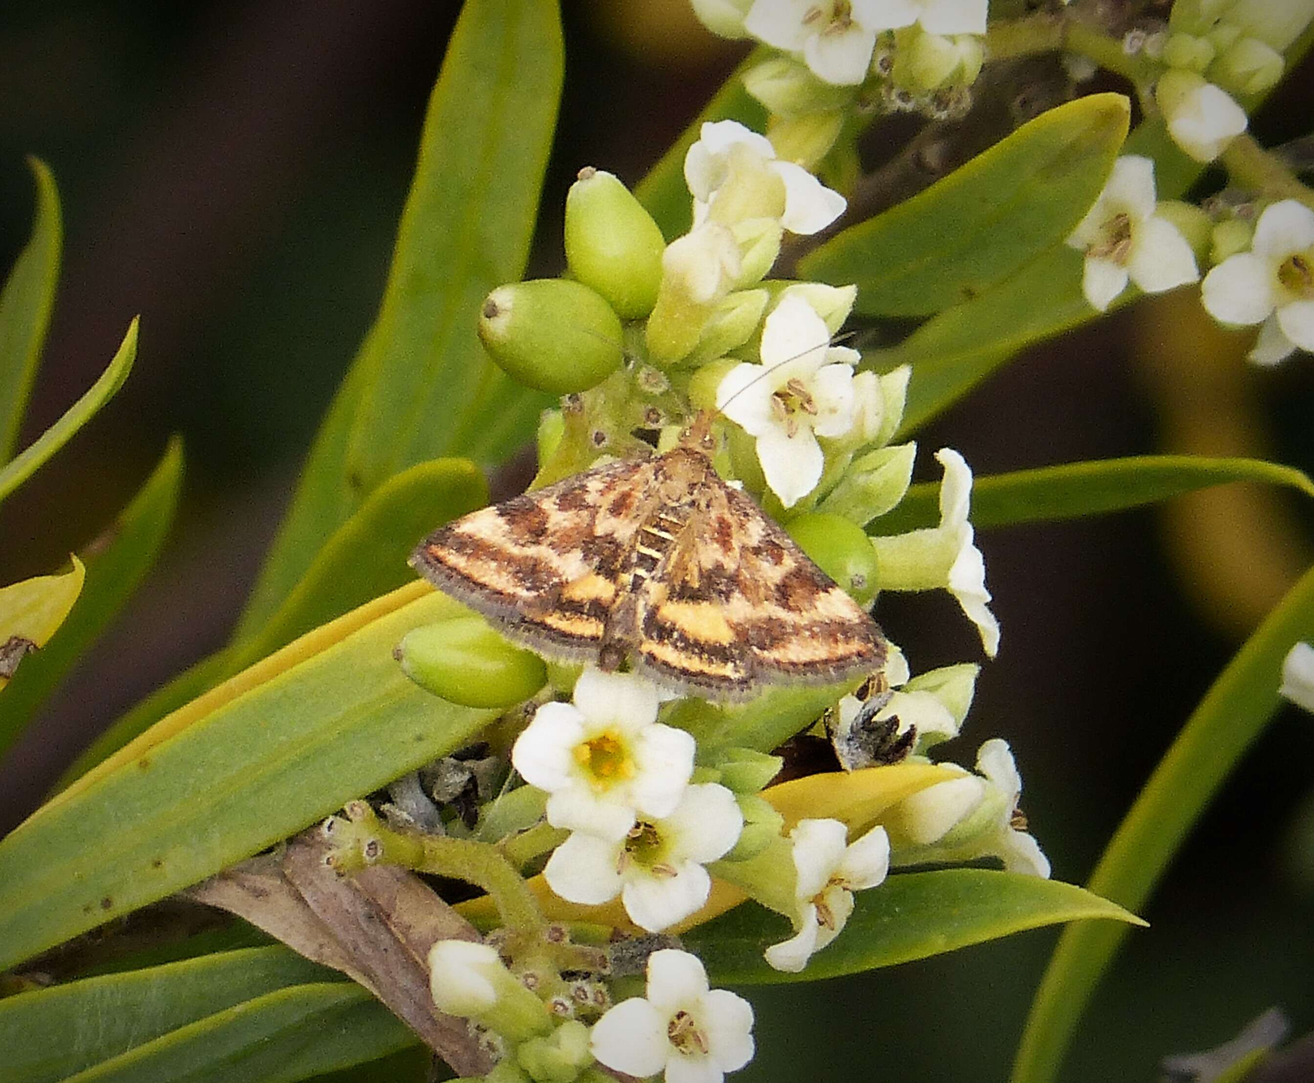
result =
[{"label": "large broad leaf with yellow upper edge, left below the moth", "polygon": [[490,718],[393,647],[464,610],[420,585],[317,628],[112,756],[0,840],[0,970],[286,839]]}]

